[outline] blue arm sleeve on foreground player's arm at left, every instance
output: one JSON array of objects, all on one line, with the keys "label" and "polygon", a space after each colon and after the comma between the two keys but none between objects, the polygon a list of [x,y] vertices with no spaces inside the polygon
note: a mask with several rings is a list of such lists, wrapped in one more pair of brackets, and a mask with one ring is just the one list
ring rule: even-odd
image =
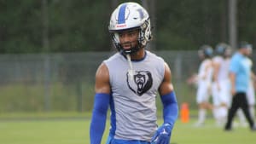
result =
[{"label": "blue arm sleeve on foreground player's arm at left", "polygon": [[99,93],[95,95],[90,121],[90,144],[101,144],[107,120],[109,98],[109,94]]}]

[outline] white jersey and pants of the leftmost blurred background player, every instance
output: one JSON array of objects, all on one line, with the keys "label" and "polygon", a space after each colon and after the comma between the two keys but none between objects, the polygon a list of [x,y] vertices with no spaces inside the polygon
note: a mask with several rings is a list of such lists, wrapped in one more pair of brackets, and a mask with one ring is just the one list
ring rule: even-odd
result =
[{"label": "white jersey and pants of the leftmost blurred background player", "polygon": [[211,95],[212,84],[212,60],[206,59],[201,62],[198,72],[198,88],[196,102],[208,101]]}]

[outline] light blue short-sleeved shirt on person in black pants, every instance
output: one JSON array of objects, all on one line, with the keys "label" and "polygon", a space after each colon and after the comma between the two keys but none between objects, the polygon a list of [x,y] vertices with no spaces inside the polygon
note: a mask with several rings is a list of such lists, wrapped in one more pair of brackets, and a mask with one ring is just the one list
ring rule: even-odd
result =
[{"label": "light blue short-sleeved shirt on person in black pants", "polygon": [[238,52],[230,60],[230,72],[236,74],[236,92],[247,91],[251,72],[249,63],[249,59]]}]

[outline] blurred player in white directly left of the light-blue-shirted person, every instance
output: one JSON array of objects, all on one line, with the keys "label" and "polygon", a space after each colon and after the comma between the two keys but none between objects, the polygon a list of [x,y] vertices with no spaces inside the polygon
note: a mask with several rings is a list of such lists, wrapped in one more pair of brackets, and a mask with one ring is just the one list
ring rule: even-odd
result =
[{"label": "blurred player in white directly left of the light-blue-shirted person", "polygon": [[215,48],[213,63],[212,103],[213,116],[218,126],[223,126],[230,105],[230,55],[231,48],[226,43],[218,43]]}]

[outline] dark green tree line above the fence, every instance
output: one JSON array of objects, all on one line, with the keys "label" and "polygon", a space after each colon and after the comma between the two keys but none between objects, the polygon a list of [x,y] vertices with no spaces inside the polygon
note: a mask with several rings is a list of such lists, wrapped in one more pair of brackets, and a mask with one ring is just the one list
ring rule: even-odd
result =
[{"label": "dark green tree line above the fence", "polygon": [[[125,0],[0,0],[0,54],[109,51],[108,23]],[[152,47],[198,49],[229,43],[228,0],[142,0],[153,21]],[[256,44],[256,1],[237,0],[238,40]]]}]

